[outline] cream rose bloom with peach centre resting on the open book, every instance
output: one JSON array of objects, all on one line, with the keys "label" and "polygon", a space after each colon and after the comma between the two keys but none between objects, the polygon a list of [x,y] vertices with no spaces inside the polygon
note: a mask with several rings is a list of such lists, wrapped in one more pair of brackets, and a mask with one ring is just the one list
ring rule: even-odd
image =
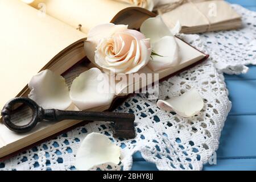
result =
[{"label": "cream rose bloom with peach centre resting on the open book", "polygon": [[126,25],[100,24],[88,33],[86,56],[105,72],[135,73],[151,56],[150,39]]}]

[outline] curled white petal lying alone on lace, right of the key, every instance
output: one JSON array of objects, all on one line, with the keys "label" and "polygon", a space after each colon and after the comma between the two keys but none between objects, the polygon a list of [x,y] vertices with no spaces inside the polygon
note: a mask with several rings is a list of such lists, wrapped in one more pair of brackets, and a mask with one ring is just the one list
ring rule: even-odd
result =
[{"label": "curled white petal lying alone on lace, right of the key", "polygon": [[192,89],[180,97],[173,97],[167,101],[159,100],[156,105],[160,109],[175,111],[181,117],[189,118],[203,109],[204,101],[199,92],[196,89]]}]

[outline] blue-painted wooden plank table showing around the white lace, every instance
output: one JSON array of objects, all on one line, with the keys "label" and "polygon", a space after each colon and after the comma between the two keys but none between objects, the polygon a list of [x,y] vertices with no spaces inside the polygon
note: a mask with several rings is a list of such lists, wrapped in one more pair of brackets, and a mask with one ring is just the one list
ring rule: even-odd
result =
[{"label": "blue-painted wooden plank table showing around the white lace", "polygon": [[[256,11],[256,0],[228,0]],[[256,22],[255,22],[256,23]],[[205,165],[211,170],[256,171],[256,66],[245,75],[225,75],[232,110],[221,134],[217,165]],[[157,170],[145,162],[141,154],[134,155],[133,170]]]}]

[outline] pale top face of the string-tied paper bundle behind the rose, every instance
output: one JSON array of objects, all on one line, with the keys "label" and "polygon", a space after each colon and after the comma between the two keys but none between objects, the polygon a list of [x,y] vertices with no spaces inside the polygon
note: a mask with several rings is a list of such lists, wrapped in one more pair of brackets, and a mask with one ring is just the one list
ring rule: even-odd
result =
[{"label": "pale top face of the string-tied paper bundle behind the rose", "polygon": [[162,16],[168,27],[174,27],[178,20],[182,27],[196,27],[241,17],[228,3],[222,0],[190,1],[163,13]]}]

